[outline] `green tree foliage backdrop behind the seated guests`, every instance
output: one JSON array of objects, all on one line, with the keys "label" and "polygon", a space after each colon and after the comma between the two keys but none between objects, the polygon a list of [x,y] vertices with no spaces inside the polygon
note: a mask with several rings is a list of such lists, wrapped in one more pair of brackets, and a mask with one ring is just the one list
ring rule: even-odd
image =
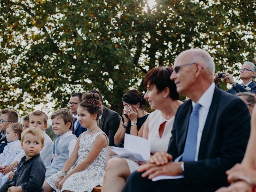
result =
[{"label": "green tree foliage backdrop behind the seated guests", "polygon": [[1,0],[0,108],[59,108],[98,88],[120,112],[149,69],[196,47],[237,75],[254,57],[255,21],[255,0]]}]

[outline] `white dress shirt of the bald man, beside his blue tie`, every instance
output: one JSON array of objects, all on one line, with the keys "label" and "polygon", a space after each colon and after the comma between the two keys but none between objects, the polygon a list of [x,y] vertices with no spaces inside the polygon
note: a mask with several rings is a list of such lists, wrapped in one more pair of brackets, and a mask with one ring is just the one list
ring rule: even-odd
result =
[{"label": "white dress shirt of the bald man, beside his blue tie", "polygon": [[[202,133],[204,130],[204,124],[206,122],[206,118],[208,116],[208,112],[210,109],[210,106],[212,104],[212,97],[215,89],[215,84],[212,83],[210,87],[204,92],[204,94],[200,97],[197,103],[201,105],[201,108],[199,109],[199,127],[198,127],[198,132],[197,132],[197,143],[196,143],[196,156],[195,156],[195,161],[198,160],[198,152],[199,152],[199,147],[200,147],[200,142],[202,138]],[[192,106],[196,105],[195,102],[192,101]]]}]

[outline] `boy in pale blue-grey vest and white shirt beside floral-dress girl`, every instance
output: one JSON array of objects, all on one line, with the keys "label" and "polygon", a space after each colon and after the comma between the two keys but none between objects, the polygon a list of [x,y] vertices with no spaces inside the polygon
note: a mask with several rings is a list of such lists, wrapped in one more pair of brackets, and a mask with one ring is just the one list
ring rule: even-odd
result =
[{"label": "boy in pale blue-grey vest and white shirt beside floral-dress girl", "polygon": [[50,167],[46,168],[46,178],[62,170],[66,160],[71,155],[76,145],[77,137],[70,131],[73,117],[67,108],[56,110],[52,116],[52,130],[54,134],[59,135],[55,141],[55,158]]}]

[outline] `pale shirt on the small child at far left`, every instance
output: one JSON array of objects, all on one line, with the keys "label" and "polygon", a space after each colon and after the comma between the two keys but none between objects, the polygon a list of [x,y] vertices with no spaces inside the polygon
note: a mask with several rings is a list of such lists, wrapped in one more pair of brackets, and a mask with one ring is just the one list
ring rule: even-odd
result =
[{"label": "pale shirt on the small child at far left", "polygon": [[20,141],[16,140],[9,142],[5,147],[4,151],[0,154],[0,166],[9,165],[12,163],[14,158],[22,151]]}]

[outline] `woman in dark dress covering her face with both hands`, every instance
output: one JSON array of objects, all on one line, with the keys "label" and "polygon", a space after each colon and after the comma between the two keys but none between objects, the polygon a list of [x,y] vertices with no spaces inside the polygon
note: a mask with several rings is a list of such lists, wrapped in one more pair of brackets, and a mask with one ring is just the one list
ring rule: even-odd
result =
[{"label": "woman in dark dress covering her face with both hands", "polygon": [[136,89],[127,91],[122,97],[124,106],[119,128],[114,136],[115,144],[122,146],[124,134],[132,134],[142,137],[143,125],[148,117],[145,110],[146,100],[144,94]]}]

